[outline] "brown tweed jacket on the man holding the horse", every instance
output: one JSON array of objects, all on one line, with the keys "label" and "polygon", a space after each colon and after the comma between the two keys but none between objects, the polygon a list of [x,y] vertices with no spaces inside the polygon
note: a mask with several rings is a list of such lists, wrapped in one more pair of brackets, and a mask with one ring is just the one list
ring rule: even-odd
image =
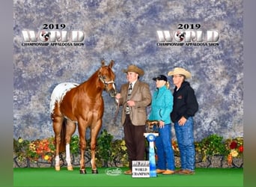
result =
[{"label": "brown tweed jacket on the man holding the horse", "polygon": [[[129,82],[121,86],[121,98],[119,99],[119,105],[123,105],[121,123],[124,124],[126,117],[126,107],[127,107],[127,92],[129,88]],[[131,107],[129,117],[132,120],[134,126],[143,126],[147,120],[147,106],[151,102],[151,93],[149,85],[145,82],[140,82],[137,80],[135,85],[133,85],[130,100],[135,102],[135,106]]]}]

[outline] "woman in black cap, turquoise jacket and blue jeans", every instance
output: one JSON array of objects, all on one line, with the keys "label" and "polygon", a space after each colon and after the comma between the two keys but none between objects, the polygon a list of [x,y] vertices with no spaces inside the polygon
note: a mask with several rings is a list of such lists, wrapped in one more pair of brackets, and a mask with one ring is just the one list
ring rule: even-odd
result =
[{"label": "woman in black cap, turquoise jacket and blue jeans", "polygon": [[171,111],[173,96],[168,90],[167,77],[163,75],[153,78],[156,90],[153,92],[149,120],[159,121],[159,136],[156,137],[157,174],[174,174],[174,150],[171,146]]}]

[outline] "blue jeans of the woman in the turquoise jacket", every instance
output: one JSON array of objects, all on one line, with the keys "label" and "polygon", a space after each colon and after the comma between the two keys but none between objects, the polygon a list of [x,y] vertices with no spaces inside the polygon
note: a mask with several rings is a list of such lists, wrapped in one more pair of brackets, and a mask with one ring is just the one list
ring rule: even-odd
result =
[{"label": "blue jeans of the woman in the turquoise jacket", "polygon": [[157,168],[160,170],[174,171],[174,150],[171,145],[171,124],[165,124],[159,128],[159,136],[156,137]]}]

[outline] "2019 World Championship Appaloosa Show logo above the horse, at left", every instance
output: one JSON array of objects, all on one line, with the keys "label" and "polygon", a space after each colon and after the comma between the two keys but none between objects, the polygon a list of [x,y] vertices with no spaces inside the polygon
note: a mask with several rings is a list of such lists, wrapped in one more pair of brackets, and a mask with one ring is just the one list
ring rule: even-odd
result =
[{"label": "2019 World Championship Appaloosa Show logo above the horse, at left", "polygon": [[65,24],[43,24],[43,29],[22,30],[22,46],[84,46],[82,30],[65,30]]}]

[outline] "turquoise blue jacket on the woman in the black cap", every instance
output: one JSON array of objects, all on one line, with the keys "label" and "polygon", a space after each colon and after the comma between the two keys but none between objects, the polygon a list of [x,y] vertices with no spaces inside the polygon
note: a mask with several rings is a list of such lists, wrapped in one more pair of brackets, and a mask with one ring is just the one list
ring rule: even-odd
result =
[{"label": "turquoise blue jacket on the woman in the black cap", "polygon": [[173,96],[166,86],[162,86],[153,92],[151,111],[148,120],[162,120],[165,124],[171,123],[171,111]]}]

